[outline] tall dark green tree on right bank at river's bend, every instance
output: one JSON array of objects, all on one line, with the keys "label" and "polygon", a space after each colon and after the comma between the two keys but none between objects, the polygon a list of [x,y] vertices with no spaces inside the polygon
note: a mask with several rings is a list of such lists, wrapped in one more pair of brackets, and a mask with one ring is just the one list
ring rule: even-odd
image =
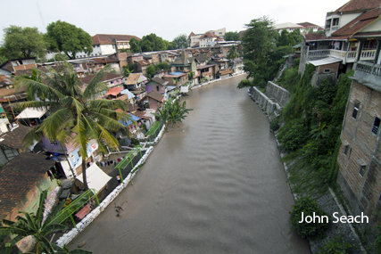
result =
[{"label": "tall dark green tree on right bank at river's bend", "polygon": [[273,24],[274,20],[269,20],[267,16],[251,20],[241,40],[244,70],[248,73],[247,78],[253,78],[254,85],[274,78],[271,77],[274,73],[269,72],[269,53],[274,51],[274,38],[277,37],[277,32],[272,29]]}]

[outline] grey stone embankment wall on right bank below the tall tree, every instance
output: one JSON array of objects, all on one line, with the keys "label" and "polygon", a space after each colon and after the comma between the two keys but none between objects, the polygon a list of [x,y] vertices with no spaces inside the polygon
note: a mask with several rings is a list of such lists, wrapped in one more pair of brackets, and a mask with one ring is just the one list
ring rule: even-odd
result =
[{"label": "grey stone embankment wall on right bank below the tall tree", "polygon": [[263,94],[255,86],[250,89],[250,93],[249,95],[266,112],[270,120],[277,117],[290,100],[290,93],[271,81],[268,82],[266,87],[266,94]]}]

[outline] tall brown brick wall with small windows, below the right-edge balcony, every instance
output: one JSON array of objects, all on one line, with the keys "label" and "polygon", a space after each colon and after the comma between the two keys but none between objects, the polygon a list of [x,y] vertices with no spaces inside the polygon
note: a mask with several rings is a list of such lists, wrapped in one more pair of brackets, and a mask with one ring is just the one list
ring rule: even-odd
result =
[{"label": "tall brown brick wall with small windows, below the right-edge balcony", "polygon": [[[356,119],[353,119],[355,103],[360,103],[360,107]],[[380,131],[377,135],[371,132],[375,117],[381,119],[381,93],[353,80],[337,162],[346,181],[343,184],[341,180],[340,185],[350,187],[357,198],[355,207],[361,206],[360,210],[365,210],[370,216],[381,194]],[[345,145],[350,148],[347,155],[344,154]],[[366,165],[363,176],[360,175],[359,160]]]}]

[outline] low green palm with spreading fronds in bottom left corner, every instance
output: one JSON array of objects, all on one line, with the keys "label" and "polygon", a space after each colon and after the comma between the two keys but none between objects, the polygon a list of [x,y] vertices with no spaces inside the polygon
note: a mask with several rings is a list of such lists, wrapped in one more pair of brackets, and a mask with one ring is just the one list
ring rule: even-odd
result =
[{"label": "low green palm with spreading fronds in bottom left corner", "polygon": [[[54,218],[58,211],[62,209],[62,205],[57,206],[46,218],[44,218],[45,201],[47,192],[44,191],[40,194],[39,205],[36,214],[21,211],[24,217],[16,217],[16,222],[3,219],[3,225],[0,226],[0,235],[13,236],[10,242],[5,243],[5,253],[10,253],[12,246],[19,242],[21,239],[31,235],[37,241],[37,252],[44,250],[46,253],[91,253],[87,250],[73,250],[69,252],[66,248],[61,249],[57,245],[46,238],[48,234],[54,232],[62,232],[67,229],[66,225],[59,225],[54,223]],[[1,242],[3,243],[3,242]]]}]

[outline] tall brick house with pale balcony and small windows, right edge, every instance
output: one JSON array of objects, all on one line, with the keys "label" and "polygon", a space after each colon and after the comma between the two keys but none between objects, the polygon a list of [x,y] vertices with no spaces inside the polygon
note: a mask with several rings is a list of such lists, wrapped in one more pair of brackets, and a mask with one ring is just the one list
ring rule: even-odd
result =
[{"label": "tall brick house with pale balcony and small windows, right edge", "polygon": [[[379,36],[362,37],[378,39]],[[380,51],[378,41],[377,52]],[[375,62],[358,61],[352,78],[340,151],[337,183],[353,216],[365,215],[374,221],[381,201],[381,57]],[[379,222],[379,220],[378,220]],[[365,225],[365,224],[364,224]],[[360,226],[364,226],[360,224]]]}]

